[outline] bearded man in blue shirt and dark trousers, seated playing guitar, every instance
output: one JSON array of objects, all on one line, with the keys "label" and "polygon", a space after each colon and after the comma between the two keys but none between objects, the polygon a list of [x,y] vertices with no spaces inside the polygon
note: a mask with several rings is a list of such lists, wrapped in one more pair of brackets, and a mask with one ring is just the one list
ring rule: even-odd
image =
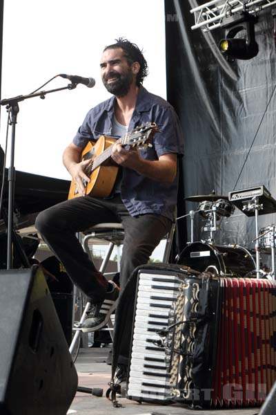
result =
[{"label": "bearded man in blue shirt and dark trousers, seated playing guitar", "polygon": [[[63,163],[72,176],[75,190],[68,201],[44,210],[36,221],[37,230],[65,266],[72,282],[93,305],[81,326],[83,331],[95,331],[106,324],[115,309],[119,288],[107,282],[95,268],[83,252],[76,232],[103,222],[124,225],[120,271],[120,288],[124,288],[132,270],[148,262],[170,230],[177,203],[177,154],[183,154],[181,129],[174,109],[141,85],[148,66],[137,45],[120,38],[106,46],[100,68],[103,84],[112,98],[88,111],[63,153]],[[161,131],[151,138],[151,146],[132,146],[133,140],[141,138],[139,131],[147,135],[156,126]],[[113,140],[106,168],[112,176],[112,169],[119,167],[119,174],[113,178],[111,193],[99,197],[97,192],[93,195],[87,191],[94,180],[88,174],[93,161],[82,159],[83,149],[88,142],[96,143],[96,147],[98,140],[108,137],[126,137],[129,145],[124,145],[124,140],[117,143]]]}]

